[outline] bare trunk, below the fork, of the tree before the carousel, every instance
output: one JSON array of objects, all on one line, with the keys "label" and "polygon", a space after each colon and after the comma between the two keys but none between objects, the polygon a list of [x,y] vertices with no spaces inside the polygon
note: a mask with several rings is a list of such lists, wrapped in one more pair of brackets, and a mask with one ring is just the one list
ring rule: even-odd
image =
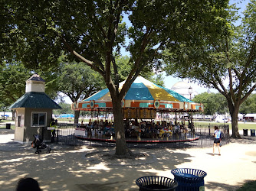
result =
[{"label": "bare trunk, below the fork, of the tree before the carousel", "polygon": [[126,145],[126,138],[123,126],[123,112],[121,101],[112,99],[113,103],[113,118],[116,138],[116,155],[126,156],[130,155],[130,151]]}]

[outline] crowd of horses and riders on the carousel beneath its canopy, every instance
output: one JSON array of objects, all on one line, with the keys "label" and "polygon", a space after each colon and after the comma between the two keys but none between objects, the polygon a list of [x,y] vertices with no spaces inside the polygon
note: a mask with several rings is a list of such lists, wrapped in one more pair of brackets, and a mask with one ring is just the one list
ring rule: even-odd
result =
[{"label": "crowd of horses and riders on the carousel beneath its canopy", "polygon": [[[137,120],[125,120],[125,136],[126,138],[171,138],[175,136],[187,137],[189,133],[194,134],[194,125],[189,121],[189,125],[185,125],[185,121],[140,121]],[[84,128],[84,136],[87,138],[114,138],[115,128],[112,121],[107,119],[103,121],[89,121],[87,125],[81,123],[80,128]]]}]

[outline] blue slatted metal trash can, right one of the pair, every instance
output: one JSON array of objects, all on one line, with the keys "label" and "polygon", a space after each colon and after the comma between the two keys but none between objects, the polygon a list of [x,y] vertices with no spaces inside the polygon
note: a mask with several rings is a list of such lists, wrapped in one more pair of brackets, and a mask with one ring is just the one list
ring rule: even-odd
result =
[{"label": "blue slatted metal trash can, right one of the pair", "polygon": [[174,175],[174,180],[178,182],[178,191],[186,190],[205,190],[204,177],[207,175],[202,170],[190,168],[178,168],[171,171]]}]

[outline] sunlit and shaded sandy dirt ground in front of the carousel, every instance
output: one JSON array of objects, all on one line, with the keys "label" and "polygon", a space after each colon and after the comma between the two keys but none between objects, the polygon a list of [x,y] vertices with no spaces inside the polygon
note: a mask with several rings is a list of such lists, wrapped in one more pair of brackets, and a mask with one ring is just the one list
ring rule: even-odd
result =
[{"label": "sunlit and shaded sandy dirt ground in front of the carousel", "polygon": [[[231,141],[212,156],[212,147],[134,149],[137,160],[110,160],[113,148],[49,144],[51,154],[34,154],[29,144],[13,141],[13,130],[0,129],[0,190],[15,190],[22,177],[33,177],[43,190],[138,190],[141,176],[166,176],[176,168],[203,170],[205,190],[235,190],[256,180],[256,139]],[[216,151],[217,153],[217,151]]]}]

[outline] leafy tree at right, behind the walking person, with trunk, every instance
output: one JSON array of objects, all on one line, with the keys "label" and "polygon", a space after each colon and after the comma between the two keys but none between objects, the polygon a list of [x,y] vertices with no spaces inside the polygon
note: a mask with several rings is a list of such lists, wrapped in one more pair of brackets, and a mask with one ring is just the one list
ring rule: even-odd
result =
[{"label": "leafy tree at right, behind the walking person, with trunk", "polygon": [[239,107],[256,88],[255,4],[255,1],[248,4],[241,25],[234,25],[235,9],[230,9],[229,15],[219,20],[230,24],[228,31],[217,28],[219,35],[215,38],[205,36],[194,44],[183,43],[166,50],[169,74],[215,88],[225,96],[231,115],[232,138],[240,138]]}]

